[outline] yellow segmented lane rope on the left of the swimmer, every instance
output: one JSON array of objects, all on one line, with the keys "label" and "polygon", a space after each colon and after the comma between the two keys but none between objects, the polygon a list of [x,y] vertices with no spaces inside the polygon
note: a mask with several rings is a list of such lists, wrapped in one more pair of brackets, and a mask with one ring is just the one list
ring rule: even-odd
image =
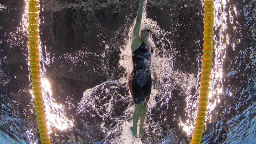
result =
[{"label": "yellow segmented lane rope on the left of the swimmer", "polygon": [[38,49],[38,0],[29,0],[28,2],[28,41],[29,41],[29,64],[32,84],[32,93],[34,96],[34,105],[36,110],[36,120],[40,133],[42,144],[51,144],[47,131],[44,101],[41,87],[41,73]]}]

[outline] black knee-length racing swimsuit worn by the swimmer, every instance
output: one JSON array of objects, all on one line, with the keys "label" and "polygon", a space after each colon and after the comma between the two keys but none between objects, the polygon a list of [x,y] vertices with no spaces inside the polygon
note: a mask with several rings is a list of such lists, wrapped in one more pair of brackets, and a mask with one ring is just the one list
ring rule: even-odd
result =
[{"label": "black knee-length racing swimsuit worn by the swimmer", "polygon": [[151,52],[142,42],[139,48],[132,52],[132,97],[135,104],[148,101],[151,93]]}]

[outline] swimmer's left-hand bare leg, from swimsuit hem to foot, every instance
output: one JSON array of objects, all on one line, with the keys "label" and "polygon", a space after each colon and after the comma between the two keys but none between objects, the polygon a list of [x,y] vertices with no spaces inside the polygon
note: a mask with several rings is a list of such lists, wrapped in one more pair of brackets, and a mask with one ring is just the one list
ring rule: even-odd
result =
[{"label": "swimmer's left-hand bare leg, from swimsuit hem to foot", "polygon": [[143,109],[143,103],[135,104],[135,110],[132,115],[132,126],[130,127],[132,131],[132,136],[137,136],[137,124],[138,124],[142,109]]}]

